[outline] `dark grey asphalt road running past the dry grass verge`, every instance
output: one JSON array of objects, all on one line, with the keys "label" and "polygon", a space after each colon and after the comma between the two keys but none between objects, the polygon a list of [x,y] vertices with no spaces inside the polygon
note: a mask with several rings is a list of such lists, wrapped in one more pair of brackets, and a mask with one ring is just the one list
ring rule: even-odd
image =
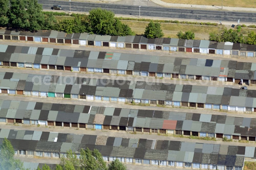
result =
[{"label": "dark grey asphalt road running past the dry grass verge", "polygon": [[[50,10],[54,4],[61,5],[63,10],[69,12],[69,1],[52,1],[52,0],[39,0],[43,5],[43,9]],[[89,3],[89,2],[71,2],[71,11],[89,12],[93,8],[103,8],[112,10],[118,15],[139,15],[138,6],[133,5],[120,5],[110,3]],[[191,10],[179,8],[165,8],[165,7],[141,7],[141,16],[145,17],[159,17],[159,18],[177,18],[185,20],[209,20],[209,21],[229,21],[237,23],[238,19],[243,23],[256,23],[256,13],[249,12],[232,12],[220,10]]]}]

